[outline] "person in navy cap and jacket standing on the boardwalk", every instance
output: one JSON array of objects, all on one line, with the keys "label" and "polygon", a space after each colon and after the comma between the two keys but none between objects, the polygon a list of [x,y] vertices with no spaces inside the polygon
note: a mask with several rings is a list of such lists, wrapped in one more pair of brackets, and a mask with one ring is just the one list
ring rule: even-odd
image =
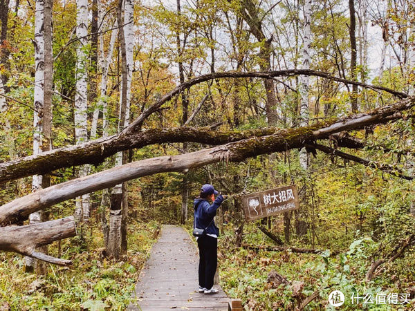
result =
[{"label": "person in navy cap and jacket standing on the boardwalk", "polygon": [[[214,223],[216,209],[221,206],[223,196],[210,184],[201,188],[199,198],[195,198],[194,226],[205,229],[205,234],[197,238],[199,247],[199,292],[204,294],[216,294],[219,292],[213,287],[214,274],[218,264],[218,236],[219,228]],[[216,196],[216,199],[214,196]],[[212,201],[212,205],[208,202]]]}]

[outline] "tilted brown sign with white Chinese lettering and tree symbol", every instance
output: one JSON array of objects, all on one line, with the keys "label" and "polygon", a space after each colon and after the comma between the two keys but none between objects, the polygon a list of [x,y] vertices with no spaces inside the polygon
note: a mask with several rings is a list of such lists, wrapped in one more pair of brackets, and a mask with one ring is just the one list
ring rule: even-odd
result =
[{"label": "tilted brown sign with white Chinese lettering and tree symbol", "polygon": [[286,186],[242,196],[246,220],[255,220],[299,208],[297,188]]}]

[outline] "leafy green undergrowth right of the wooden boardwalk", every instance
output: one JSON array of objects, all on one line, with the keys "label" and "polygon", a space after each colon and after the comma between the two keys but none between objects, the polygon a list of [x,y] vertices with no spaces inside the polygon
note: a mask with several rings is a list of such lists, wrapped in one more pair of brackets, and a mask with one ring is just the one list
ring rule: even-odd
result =
[{"label": "leafy green undergrowth right of the wooden boardwalk", "polygon": [[[323,250],[320,254],[299,254],[289,248],[270,252],[236,247],[233,225],[224,227],[225,233],[218,243],[220,284],[230,298],[241,299],[246,310],[302,310],[299,308],[301,303],[309,296],[315,296],[315,292],[319,295],[304,310],[415,310],[413,267],[408,267],[400,280],[393,280],[392,266],[374,281],[365,281],[368,264],[362,252],[364,239],[351,243],[349,249],[335,256],[321,246],[316,247]],[[190,225],[187,229],[191,233]],[[275,246],[253,223],[244,226],[243,243]],[[310,245],[301,245],[298,239],[293,239],[291,246],[310,248]],[[273,272],[284,276],[289,284],[275,279]],[[329,294],[333,290],[344,293],[341,308],[329,304]],[[360,295],[359,303],[357,294]],[[395,303],[389,302],[390,295],[398,297]],[[365,302],[365,296],[371,299]],[[385,302],[377,303],[380,297],[385,297]]]}]

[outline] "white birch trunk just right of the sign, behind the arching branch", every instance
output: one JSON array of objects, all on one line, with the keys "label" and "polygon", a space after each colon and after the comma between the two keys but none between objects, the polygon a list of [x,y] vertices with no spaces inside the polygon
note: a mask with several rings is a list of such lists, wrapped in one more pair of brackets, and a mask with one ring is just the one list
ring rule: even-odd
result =
[{"label": "white birch trunk just right of the sign, behind the arching branch", "polygon": [[[303,69],[310,68],[310,43],[311,43],[311,0],[306,0],[304,3],[304,39],[302,48]],[[309,109],[308,109],[308,84],[309,77],[307,75],[301,76],[301,83],[299,93],[301,95],[301,104],[299,106],[300,126],[308,124]],[[299,151],[299,165],[302,169],[307,169],[308,156],[305,148]]]}]

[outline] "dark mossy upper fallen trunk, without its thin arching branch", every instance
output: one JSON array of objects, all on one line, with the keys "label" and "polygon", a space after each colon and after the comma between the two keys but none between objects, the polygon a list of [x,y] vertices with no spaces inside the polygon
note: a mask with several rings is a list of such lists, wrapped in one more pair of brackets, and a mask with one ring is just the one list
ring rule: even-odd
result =
[{"label": "dark mossy upper fallen trunk, without its thin arching branch", "polygon": [[250,137],[265,136],[279,131],[277,128],[248,131],[213,131],[210,128],[176,127],[172,129],[149,129],[126,135],[92,140],[76,146],[53,149],[37,156],[27,156],[0,164],[0,183],[46,174],[55,169],[81,164],[100,164],[105,158],[132,148],[163,142],[199,142],[202,144],[225,144]]}]

